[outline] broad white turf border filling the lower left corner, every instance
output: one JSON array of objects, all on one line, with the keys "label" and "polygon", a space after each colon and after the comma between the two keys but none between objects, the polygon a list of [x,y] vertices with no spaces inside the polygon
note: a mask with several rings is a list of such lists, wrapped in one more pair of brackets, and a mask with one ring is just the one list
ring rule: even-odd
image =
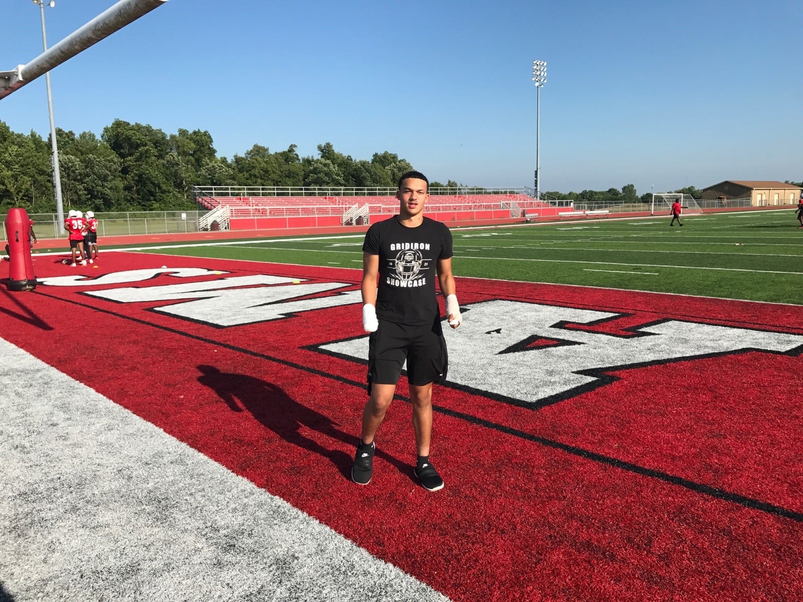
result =
[{"label": "broad white turf border filling the lower left corner", "polygon": [[0,583],[29,600],[447,600],[0,338]]}]

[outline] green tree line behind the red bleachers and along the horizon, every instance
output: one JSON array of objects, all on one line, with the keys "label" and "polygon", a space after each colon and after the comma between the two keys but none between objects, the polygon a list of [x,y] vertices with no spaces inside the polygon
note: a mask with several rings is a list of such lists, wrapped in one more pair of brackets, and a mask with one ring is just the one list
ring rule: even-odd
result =
[{"label": "green tree line behind the red bleachers and along the horizon", "polygon": [[[393,188],[399,176],[413,169],[396,153],[373,153],[371,160],[355,160],[326,142],[319,157],[300,157],[296,144],[271,153],[254,144],[242,155],[218,157],[206,130],[179,129],[165,134],[147,124],[115,120],[100,138],[92,132],[56,128],[64,209],[94,211],[157,211],[194,209],[193,185],[198,186],[324,186]],[[55,213],[50,139],[36,132],[12,132],[0,120],[0,213],[24,207],[31,214]],[[449,180],[430,187],[468,188]],[[471,187],[481,191],[481,187]],[[694,186],[675,193],[701,198]],[[622,189],[552,191],[547,198],[589,203],[638,203],[632,184]]]}]

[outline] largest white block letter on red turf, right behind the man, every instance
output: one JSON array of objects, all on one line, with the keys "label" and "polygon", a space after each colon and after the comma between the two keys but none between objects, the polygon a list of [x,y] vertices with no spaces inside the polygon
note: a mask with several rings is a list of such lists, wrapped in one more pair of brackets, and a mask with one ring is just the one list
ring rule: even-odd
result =
[{"label": "largest white block letter on red turf, right behind the man", "polygon": [[[758,349],[789,352],[803,336],[746,328],[667,320],[638,328],[637,336],[610,336],[560,327],[561,321],[590,323],[613,318],[605,311],[495,300],[463,306],[463,323],[444,328],[449,347],[450,383],[491,397],[538,405],[577,388],[593,388],[598,376],[584,371],[683,360]],[[638,336],[642,335],[642,336]],[[526,342],[557,340],[527,348]],[[322,345],[328,352],[368,359],[367,336]],[[579,392],[579,390],[578,390]]]}]

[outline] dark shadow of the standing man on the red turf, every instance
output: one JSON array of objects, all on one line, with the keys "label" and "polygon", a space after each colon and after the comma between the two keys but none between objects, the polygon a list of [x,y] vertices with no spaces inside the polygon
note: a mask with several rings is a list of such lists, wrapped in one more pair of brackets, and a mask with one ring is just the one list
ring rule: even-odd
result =
[{"label": "dark shadow of the standing man on the red turf", "polygon": [[[198,382],[214,390],[232,412],[247,410],[267,429],[288,443],[328,458],[340,470],[340,474],[345,478],[351,478],[353,455],[346,454],[340,449],[327,449],[300,432],[302,427],[307,427],[356,449],[358,437],[338,429],[340,424],[300,404],[284,393],[282,388],[266,380],[247,374],[221,372],[218,368],[207,364],[199,365],[198,370],[202,372],[202,376],[198,376]],[[402,473],[410,472],[402,462],[381,453],[378,449],[377,456],[396,466]]]}]

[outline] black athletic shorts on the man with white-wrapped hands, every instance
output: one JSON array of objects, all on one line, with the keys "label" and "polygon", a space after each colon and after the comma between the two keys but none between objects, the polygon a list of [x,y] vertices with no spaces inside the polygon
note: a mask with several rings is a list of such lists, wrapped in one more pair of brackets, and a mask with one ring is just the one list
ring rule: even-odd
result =
[{"label": "black athletic shorts on the man with white-wrapped hands", "polygon": [[407,362],[407,380],[422,385],[446,380],[449,356],[441,320],[410,326],[379,320],[368,342],[368,392],[371,384],[397,384]]}]

